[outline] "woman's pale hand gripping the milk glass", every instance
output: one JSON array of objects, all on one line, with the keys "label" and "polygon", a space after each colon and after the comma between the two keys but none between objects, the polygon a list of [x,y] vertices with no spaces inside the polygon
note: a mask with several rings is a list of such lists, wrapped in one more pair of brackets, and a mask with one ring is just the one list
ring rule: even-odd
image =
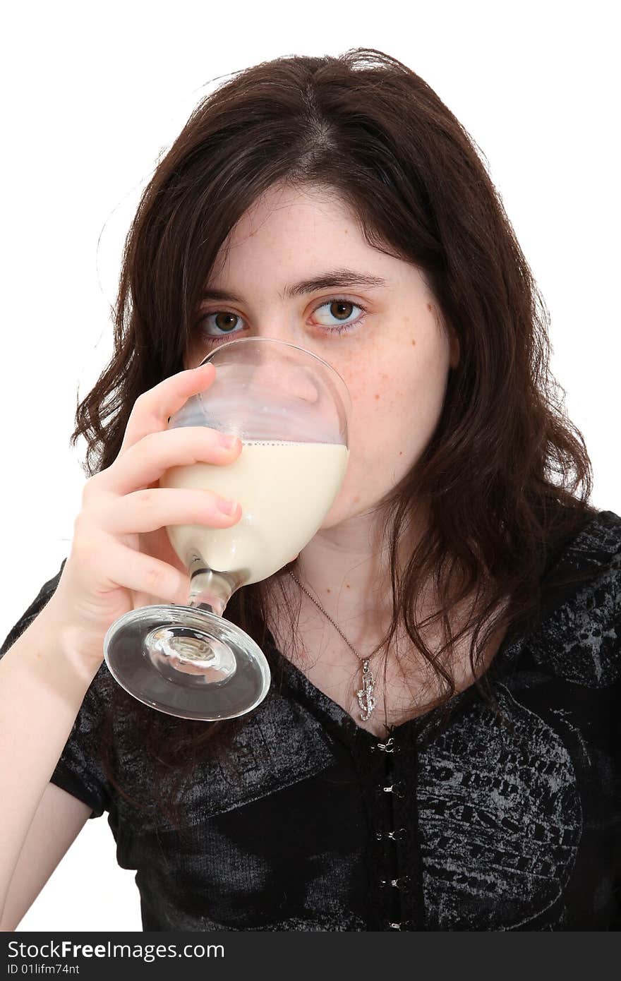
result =
[{"label": "woman's pale hand gripping the milk glass", "polygon": [[231,528],[241,517],[237,502],[231,515],[220,510],[222,499],[211,490],[158,487],[169,467],[237,459],[239,439],[228,448],[222,434],[207,427],[168,429],[169,418],[215,376],[208,363],[143,392],[116,460],[86,481],[71,552],[47,606],[90,667],[103,660],[111,624],[145,605],[144,597],[187,602],[189,575],[171,547],[167,525]]}]

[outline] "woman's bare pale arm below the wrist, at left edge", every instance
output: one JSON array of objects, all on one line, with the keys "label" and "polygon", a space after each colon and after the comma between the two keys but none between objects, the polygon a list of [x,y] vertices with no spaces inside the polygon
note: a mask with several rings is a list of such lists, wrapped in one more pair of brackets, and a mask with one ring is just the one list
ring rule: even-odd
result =
[{"label": "woman's bare pale arm below the wrist, at left edge", "polygon": [[[3,929],[16,915],[24,915],[27,898],[31,903],[38,895],[78,834],[82,816],[85,820],[90,813],[71,795],[66,795],[71,802],[63,800],[59,805],[58,795],[48,787],[96,670],[80,659],[71,632],[58,623],[51,605],[41,610],[0,659]],[[45,827],[50,817],[51,825]],[[69,822],[65,828],[64,821]],[[22,862],[26,842],[28,855]],[[32,862],[38,869],[31,867]]]}]

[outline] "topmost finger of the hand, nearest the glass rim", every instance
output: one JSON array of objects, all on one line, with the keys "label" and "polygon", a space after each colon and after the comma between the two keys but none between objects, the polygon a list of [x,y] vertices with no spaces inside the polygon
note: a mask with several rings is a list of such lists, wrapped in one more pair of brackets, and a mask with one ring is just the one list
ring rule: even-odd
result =
[{"label": "topmost finger of the hand, nearest the glass rim", "polygon": [[179,412],[188,398],[210,387],[215,377],[216,368],[208,361],[199,368],[171,375],[142,392],[133,403],[119,456],[148,433],[161,433],[167,429],[170,417]]}]

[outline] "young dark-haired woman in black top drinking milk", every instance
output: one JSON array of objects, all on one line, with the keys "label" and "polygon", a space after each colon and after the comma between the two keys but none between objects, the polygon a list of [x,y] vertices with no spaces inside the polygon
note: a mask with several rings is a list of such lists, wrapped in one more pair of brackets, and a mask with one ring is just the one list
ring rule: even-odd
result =
[{"label": "young dark-haired woman in black top drinking milk", "polygon": [[[167,525],[240,518],[157,483],[243,451],[167,420],[244,336],[336,368],[350,463],[313,540],[227,607],[268,697],[186,721],[129,697],[103,638],[186,602]],[[406,66],[283,58],[197,107],[78,407],[71,552],[1,651],[5,930],[104,811],[145,930],[619,928],[621,518],[589,503],[548,354],[473,141]]]}]

